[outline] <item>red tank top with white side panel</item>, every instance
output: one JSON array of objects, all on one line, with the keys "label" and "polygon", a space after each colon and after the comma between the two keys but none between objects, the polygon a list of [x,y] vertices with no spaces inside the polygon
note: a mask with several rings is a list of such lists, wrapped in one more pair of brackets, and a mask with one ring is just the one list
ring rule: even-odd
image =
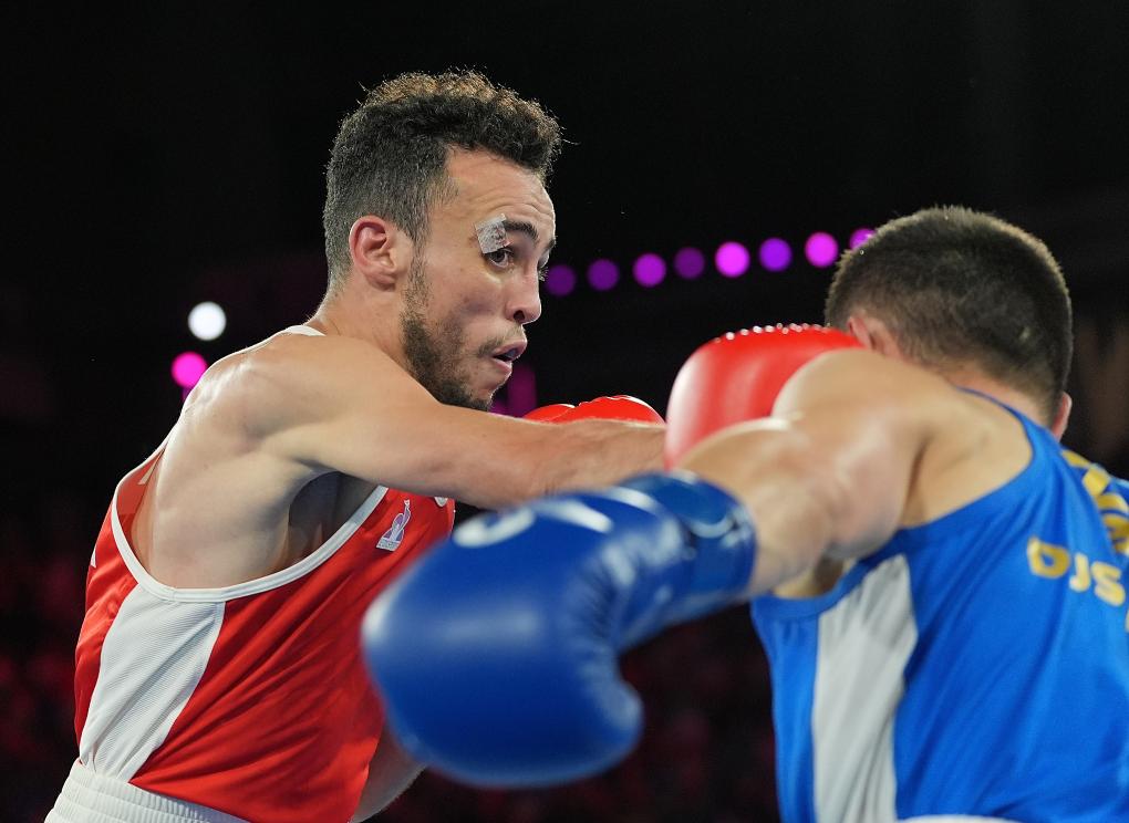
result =
[{"label": "red tank top with white side panel", "polygon": [[245,820],[348,820],[384,719],[361,662],[361,618],[450,532],[454,504],[382,487],[295,566],[175,589],[129,543],[156,456],[119,483],[90,559],[76,651],[79,760]]}]

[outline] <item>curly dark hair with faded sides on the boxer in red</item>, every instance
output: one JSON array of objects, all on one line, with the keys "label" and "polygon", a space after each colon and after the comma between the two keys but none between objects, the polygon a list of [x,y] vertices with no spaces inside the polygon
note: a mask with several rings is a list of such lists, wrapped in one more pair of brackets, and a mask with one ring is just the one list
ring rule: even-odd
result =
[{"label": "curly dark hair with faded sides on the boxer in red", "polygon": [[428,210],[449,193],[450,148],[483,149],[544,182],[560,143],[560,126],[539,103],[478,71],[410,72],[382,82],[341,121],[325,170],[331,287],[349,268],[349,229],[358,217],[379,214],[414,242],[427,238]]}]

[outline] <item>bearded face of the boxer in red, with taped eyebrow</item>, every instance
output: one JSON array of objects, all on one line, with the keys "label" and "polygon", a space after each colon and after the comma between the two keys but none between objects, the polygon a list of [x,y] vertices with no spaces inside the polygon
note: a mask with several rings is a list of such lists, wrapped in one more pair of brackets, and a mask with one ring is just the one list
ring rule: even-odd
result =
[{"label": "bearded face of the boxer in red, with taped eyebrow", "polygon": [[[453,150],[453,198],[435,203],[415,249],[400,314],[414,377],[437,400],[489,409],[541,314],[540,278],[555,237],[537,176],[482,151]],[[483,254],[475,224],[506,216],[506,246]]]}]

